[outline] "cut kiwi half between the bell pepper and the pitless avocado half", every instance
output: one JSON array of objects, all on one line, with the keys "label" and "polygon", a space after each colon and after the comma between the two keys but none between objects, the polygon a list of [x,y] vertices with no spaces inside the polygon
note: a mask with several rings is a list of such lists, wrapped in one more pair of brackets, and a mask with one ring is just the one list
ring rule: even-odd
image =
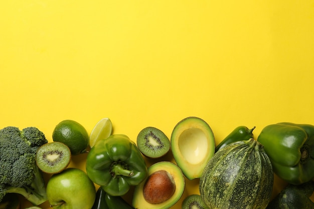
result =
[{"label": "cut kiwi half between the bell pepper and the pitless avocado half", "polygon": [[148,158],[163,157],[170,150],[169,138],[155,127],[142,129],[137,135],[136,144],[141,153]]}]

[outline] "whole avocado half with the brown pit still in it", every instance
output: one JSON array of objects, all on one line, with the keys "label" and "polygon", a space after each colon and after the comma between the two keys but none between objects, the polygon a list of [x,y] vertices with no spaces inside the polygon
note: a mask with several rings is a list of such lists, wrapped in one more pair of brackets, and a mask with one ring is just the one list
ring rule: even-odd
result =
[{"label": "whole avocado half with the brown pit still in it", "polygon": [[[162,183],[155,183],[159,180]],[[170,208],[181,198],[184,188],[181,169],[172,162],[161,161],[149,166],[147,178],[135,186],[132,204],[135,208]]]}]

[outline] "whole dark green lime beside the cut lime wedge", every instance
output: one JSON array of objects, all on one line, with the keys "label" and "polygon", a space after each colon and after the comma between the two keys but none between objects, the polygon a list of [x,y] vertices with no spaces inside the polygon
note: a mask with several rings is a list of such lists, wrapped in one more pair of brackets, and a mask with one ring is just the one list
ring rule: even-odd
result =
[{"label": "whole dark green lime beside the cut lime wedge", "polygon": [[52,133],[52,139],[67,145],[73,155],[85,153],[89,146],[86,129],[74,120],[63,120],[58,123]]}]

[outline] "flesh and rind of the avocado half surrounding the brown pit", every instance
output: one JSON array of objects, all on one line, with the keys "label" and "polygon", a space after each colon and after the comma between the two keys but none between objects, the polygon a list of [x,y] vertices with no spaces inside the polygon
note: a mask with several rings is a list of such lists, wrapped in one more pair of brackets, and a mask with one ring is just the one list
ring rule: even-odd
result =
[{"label": "flesh and rind of the avocado half surrounding the brown pit", "polygon": [[[155,171],[159,171],[159,170],[166,170],[172,175],[172,177],[176,183],[176,189],[175,189],[174,194],[168,200],[166,200],[162,203],[158,203],[158,204],[151,204],[144,199],[143,187],[144,187],[144,184],[145,184],[148,176],[150,176]],[[170,161],[157,162],[157,163],[148,167],[147,178],[143,182],[141,182],[140,184],[136,185],[134,188],[134,194],[133,194],[133,200],[132,200],[132,204],[133,204],[134,208],[140,208],[140,209],[141,208],[145,208],[145,209],[170,208],[181,198],[183,191],[184,191],[184,188],[185,188],[185,179],[184,179],[184,175],[183,175],[180,167],[178,167],[178,165],[176,165]]]}]

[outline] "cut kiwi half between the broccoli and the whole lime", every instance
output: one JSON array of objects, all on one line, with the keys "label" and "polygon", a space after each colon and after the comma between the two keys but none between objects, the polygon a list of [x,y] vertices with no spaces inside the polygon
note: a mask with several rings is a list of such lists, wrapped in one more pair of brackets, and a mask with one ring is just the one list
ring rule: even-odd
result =
[{"label": "cut kiwi half between the broccoli and the whole lime", "polygon": [[71,151],[62,142],[50,142],[42,145],[36,152],[36,163],[45,173],[59,173],[69,165]]}]

